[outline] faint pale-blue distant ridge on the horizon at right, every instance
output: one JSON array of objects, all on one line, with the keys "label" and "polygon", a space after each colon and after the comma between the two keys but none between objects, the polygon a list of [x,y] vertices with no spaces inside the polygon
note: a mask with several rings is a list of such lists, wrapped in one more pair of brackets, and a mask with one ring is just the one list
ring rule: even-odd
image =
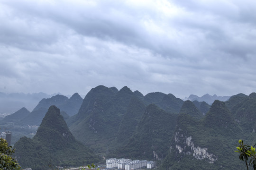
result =
[{"label": "faint pale-blue distant ridge on the horizon at right", "polygon": [[228,101],[230,96],[217,96],[216,94],[210,95],[210,94],[204,94],[201,97],[191,94],[186,100],[190,101],[198,101],[198,102],[207,102],[208,104],[212,104],[215,100],[219,100],[222,102]]}]

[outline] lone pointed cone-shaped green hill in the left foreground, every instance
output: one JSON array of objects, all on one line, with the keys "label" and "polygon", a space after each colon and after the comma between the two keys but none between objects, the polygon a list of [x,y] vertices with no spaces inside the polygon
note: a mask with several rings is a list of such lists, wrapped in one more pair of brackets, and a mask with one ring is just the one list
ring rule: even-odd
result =
[{"label": "lone pointed cone-shaped green hill in the left foreground", "polygon": [[48,170],[49,164],[55,168],[56,165],[81,166],[99,161],[70,133],[56,106],[49,108],[33,139],[22,137],[14,147],[15,156],[23,168]]}]

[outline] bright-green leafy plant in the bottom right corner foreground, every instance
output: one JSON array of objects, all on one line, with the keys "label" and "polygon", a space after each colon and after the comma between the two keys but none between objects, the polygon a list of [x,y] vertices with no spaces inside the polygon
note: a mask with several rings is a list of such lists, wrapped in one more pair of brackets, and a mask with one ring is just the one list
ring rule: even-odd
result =
[{"label": "bright-green leafy plant in the bottom right corner foreground", "polygon": [[253,166],[253,169],[256,170],[256,151],[255,151],[255,145],[254,146],[250,146],[248,144],[244,144],[244,141],[242,139],[240,139],[238,141],[238,146],[237,146],[237,150],[235,152],[240,153],[239,155],[239,159],[241,161],[245,161],[247,170],[249,170],[248,167],[248,160],[249,161],[249,166]]}]

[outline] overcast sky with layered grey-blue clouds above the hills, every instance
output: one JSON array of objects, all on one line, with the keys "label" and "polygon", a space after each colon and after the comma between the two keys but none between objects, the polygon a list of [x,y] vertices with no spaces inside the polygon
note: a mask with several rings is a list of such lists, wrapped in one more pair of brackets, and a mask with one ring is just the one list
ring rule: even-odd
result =
[{"label": "overcast sky with layered grey-blue clouds above the hills", "polygon": [[0,92],[256,92],[256,0],[0,0]]}]

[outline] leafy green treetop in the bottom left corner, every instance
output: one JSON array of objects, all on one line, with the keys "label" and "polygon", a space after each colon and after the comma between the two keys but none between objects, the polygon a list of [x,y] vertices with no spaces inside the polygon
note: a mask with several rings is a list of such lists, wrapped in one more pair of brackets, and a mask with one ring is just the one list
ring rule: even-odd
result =
[{"label": "leafy green treetop in the bottom left corner", "polygon": [[21,170],[18,162],[11,157],[15,152],[11,148],[5,139],[0,138],[0,170]]}]

